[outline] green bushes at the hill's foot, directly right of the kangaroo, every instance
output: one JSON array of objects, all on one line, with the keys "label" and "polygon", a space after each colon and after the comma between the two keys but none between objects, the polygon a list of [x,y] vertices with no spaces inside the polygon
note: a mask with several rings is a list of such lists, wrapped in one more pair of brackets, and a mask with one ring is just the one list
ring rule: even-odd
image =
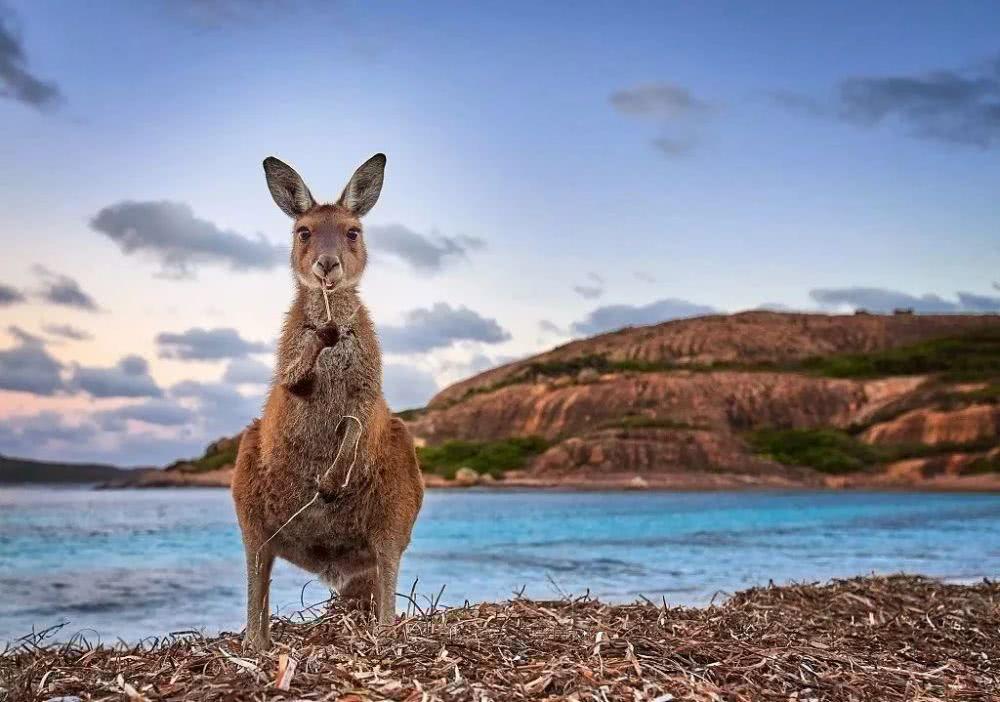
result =
[{"label": "green bushes at the hill's foot, directly right of the kangaroo", "polygon": [[549,446],[537,436],[511,437],[500,441],[446,441],[437,446],[417,448],[420,467],[449,480],[459,468],[471,468],[480,474],[501,478],[505,471],[524,466],[529,458]]}]

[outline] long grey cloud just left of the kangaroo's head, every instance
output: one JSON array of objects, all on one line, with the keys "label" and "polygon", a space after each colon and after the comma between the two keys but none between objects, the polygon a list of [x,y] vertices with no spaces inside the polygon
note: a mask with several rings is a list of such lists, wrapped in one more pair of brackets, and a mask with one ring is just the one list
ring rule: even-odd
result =
[{"label": "long grey cloud just left of the kangaroo's head", "polygon": [[195,217],[181,202],[126,200],[105,207],[90,226],[114,241],[125,254],[138,253],[158,262],[170,278],[193,275],[202,264],[234,271],[271,270],[287,251],[263,236],[243,236]]}]

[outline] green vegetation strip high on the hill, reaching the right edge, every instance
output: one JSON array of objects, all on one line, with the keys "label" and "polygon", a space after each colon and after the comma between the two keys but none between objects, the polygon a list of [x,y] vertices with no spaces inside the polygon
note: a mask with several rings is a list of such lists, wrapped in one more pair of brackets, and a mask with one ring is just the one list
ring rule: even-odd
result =
[{"label": "green vegetation strip high on the hill, reaching the right edge", "polygon": [[1000,377],[1000,329],[932,339],[885,351],[811,358],[802,369],[831,378],[941,373],[949,380]]}]

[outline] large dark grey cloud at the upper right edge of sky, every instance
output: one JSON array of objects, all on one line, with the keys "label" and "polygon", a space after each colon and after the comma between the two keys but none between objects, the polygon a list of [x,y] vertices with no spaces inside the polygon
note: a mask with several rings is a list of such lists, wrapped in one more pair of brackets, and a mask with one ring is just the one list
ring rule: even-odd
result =
[{"label": "large dark grey cloud at the upper right edge of sky", "polygon": [[1000,144],[1000,56],[959,69],[846,78],[829,101],[789,92],[772,98],[860,127],[898,124],[922,139],[982,149]]}]

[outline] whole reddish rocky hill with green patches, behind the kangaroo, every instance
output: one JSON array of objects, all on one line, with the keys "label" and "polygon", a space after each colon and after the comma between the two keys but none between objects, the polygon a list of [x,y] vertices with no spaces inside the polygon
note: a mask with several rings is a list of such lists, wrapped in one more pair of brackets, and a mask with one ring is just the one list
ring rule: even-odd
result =
[{"label": "whole reddish rocky hill with green patches, behind the kangaroo", "polygon": [[[432,486],[1000,489],[1000,316],[746,312],[622,329],[401,416]],[[133,482],[226,485],[237,444]]]}]

